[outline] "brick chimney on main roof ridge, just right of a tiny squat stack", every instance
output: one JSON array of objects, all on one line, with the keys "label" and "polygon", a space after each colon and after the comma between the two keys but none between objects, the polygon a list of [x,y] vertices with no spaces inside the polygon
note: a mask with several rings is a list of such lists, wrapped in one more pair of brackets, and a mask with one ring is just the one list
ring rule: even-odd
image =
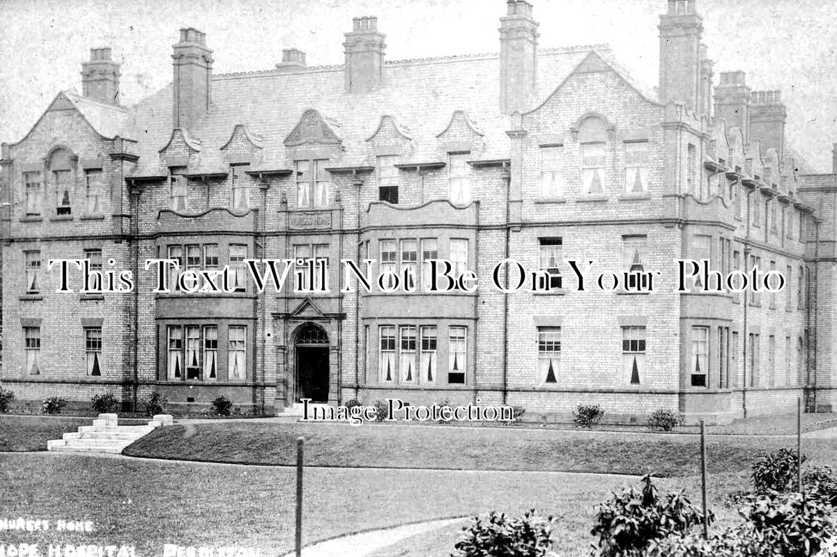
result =
[{"label": "brick chimney on main roof ridge, just right of a tiny squat stack", "polygon": [[383,39],[387,35],[377,30],[377,18],[354,18],[352,32],[345,33],[343,48],[346,53],[346,91],[363,93],[383,84]]}]

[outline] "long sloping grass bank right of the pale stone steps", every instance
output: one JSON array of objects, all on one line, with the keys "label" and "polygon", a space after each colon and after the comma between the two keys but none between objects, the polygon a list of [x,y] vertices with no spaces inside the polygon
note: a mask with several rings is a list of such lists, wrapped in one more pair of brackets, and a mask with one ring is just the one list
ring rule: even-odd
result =
[{"label": "long sloping grass bank right of the pale stone steps", "polygon": [[[525,428],[408,427],[368,424],[206,422],[164,427],[126,448],[138,457],[292,465],[297,437],[306,464],[337,467],[544,470],[598,473],[700,473],[695,436],[630,435]],[[709,468],[749,470],[783,437],[710,437]],[[837,439],[805,442],[809,462],[837,465]]]}]

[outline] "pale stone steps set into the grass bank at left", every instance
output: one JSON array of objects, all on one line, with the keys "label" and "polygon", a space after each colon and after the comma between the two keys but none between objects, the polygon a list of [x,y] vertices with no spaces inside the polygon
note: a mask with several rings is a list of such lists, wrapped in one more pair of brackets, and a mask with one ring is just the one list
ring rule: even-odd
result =
[{"label": "pale stone steps set into the grass bank at left", "polygon": [[140,437],[157,427],[172,425],[172,416],[157,414],[146,426],[120,426],[116,414],[100,414],[90,426],[79,427],[78,432],[64,433],[61,439],[47,442],[47,450],[54,452],[105,452],[119,454]]}]

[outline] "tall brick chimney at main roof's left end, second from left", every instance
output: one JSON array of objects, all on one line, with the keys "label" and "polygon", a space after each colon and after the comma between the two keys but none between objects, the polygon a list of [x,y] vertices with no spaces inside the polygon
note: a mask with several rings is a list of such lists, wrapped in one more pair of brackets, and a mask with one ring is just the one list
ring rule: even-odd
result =
[{"label": "tall brick chimney at main roof's left end, second from left", "polygon": [[212,50],[198,29],[182,28],[174,45],[173,126],[191,129],[209,110],[212,100]]}]

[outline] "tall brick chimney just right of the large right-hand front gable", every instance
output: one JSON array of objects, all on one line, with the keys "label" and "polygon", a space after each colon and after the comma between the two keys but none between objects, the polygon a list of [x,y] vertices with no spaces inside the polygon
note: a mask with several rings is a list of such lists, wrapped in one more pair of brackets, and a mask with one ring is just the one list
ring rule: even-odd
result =
[{"label": "tall brick chimney just right of the large right-hand front gable", "polygon": [[697,113],[701,106],[701,33],[696,0],[669,0],[660,16],[660,102],[682,103]]}]

